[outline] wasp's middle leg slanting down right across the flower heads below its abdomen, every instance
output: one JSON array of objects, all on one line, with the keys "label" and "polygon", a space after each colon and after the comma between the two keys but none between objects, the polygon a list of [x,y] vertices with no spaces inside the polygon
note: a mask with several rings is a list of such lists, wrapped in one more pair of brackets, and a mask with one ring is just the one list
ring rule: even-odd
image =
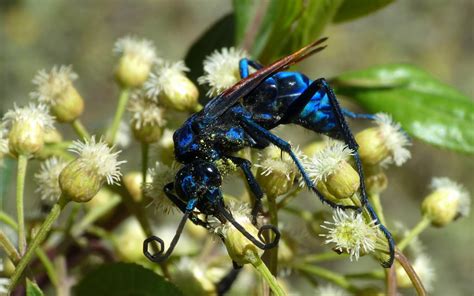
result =
[{"label": "wasp's middle leg slanting down right across the flower heads below its abdomen", "polygon": [[301,175],[303,176],[303,180],[305,181],[306,186],[308,186],[308,188],[310,188],[314,193],[316,193],[316,195],[321,199],[322,202],[329,204],[333,208],[357,209],[357,207],[354,207],[354,206],[338,205],[326,199],[321,194],[321,192],[319,192],[319,190],[314,186],[313,182],[309,178],[308,173],[306,173],[306,170],[304,169],[300,160],[298,159],[298,157],[296,157],[293,150],[291,150],[291,145],[288,142],[272,134],[267,129],[261,127],[260,125],[252,121],[251,119],[241,116],[240,122],[241,122],[242,127],[257,141],[259,139],[262,139],[264,141],[269,141],[270,143],[280,148],[282,151],[288,153],[291,159],[293,160],[293,162],[296,164],[296,167],[300,171]]}]

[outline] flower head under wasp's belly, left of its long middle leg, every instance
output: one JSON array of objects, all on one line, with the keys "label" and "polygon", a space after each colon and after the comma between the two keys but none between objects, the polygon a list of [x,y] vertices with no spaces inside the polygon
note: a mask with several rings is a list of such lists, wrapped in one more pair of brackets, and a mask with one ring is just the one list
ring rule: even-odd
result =
[{"label": "flower head under wasp's belly, left of its long middle leg", "polygon": [[[298,149],[294,151],[300,156],[299,158],[303,158]],[[265,148],[259,154],[256,166],[259,168],[257,181],[270,198],[288,193],[297,184],[298,168],[288,154],[282,153],[280,148],[274,145]]]}]

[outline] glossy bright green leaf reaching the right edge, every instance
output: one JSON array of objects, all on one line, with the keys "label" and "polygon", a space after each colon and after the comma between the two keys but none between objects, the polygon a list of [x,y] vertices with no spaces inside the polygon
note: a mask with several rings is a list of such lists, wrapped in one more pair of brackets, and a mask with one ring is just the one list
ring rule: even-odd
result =
[{"label": "glossy bright green leaf reaching the right edge", "polygon": [[336,93],[369,112],[387,112],[412,136],[474,153],[474,102],[410,65],[385,65],[340,75]]}]

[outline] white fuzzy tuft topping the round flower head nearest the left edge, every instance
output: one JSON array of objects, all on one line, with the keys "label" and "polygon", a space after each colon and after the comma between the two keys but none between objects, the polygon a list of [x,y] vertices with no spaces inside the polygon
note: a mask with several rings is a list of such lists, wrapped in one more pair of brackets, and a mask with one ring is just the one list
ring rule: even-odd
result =
[{"label": "white fuzzy tuft topping the round flower head nearest the left edge", "polygon": [[25,107],[13,105],[13,110],[3,116],[7,126],[11,128],[16,123],[30,127],[40,127],[43,130],[53,129],[54,118],[49,115],[49,108],[44,104],[29,104]]}]

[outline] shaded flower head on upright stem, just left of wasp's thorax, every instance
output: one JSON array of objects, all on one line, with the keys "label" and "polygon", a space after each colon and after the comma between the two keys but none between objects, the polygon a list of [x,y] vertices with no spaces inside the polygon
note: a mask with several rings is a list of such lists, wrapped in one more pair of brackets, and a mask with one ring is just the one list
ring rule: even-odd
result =
[{"label": "shaded flower head on upright stem, just left of wasp's thorax", "polygon": [[142,143],[153,143],[160,139],[165,124],[164,110],[148,98],[144,92],[135,92],[130,100],[128,110],[131,112],[135,138]]}]

